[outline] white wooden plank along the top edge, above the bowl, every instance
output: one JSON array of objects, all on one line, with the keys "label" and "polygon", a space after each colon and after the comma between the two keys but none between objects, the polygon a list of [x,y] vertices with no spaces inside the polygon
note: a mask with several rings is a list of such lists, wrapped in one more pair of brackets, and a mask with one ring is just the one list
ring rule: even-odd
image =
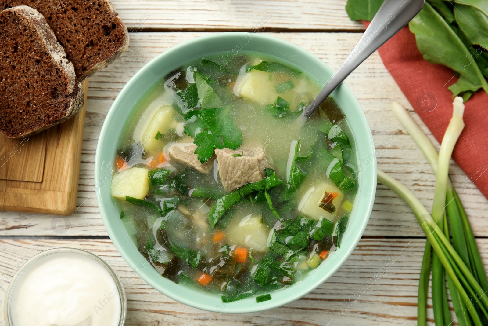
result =
[{"label": "white wooden plank along the top edge, above the bowl", "polygon": [[113,0],[129,30],[362,31],[351,22],[346,0]]}]

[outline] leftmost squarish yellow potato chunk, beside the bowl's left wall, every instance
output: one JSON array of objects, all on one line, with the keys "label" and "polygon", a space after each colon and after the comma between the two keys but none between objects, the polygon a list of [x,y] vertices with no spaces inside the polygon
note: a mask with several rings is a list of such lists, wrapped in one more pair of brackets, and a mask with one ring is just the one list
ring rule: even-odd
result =
[{"label": "leftmost squarish yellow potato chunk, beside the bowl's left wall", "polygon": [[125,196],[143,199],[149,192],[148,171],[144,168],[129,168],[116,173],[112,178],[112,196],[121,199],[125,199]]}]

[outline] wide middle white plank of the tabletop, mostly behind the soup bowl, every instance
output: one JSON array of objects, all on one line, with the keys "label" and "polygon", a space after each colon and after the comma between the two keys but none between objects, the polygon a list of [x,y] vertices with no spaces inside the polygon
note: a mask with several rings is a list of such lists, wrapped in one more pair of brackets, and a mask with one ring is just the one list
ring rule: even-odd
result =
[{"label": "wide middle white plank of the tabletop, mostly behind the soup bowl", "polygon": [[[136,33],[127,52],[113,64],[90,78],[88,92],[81,172],[77,209],[63,221],[71,225],[67,236],[106,236],[99,215],[94,187],[94,160],[98,135],[103,119],[125,83],[150,59],[183,41],[208,33]],[[315,54],[333,69],[337,69],[348,51],[361,37],[360,33],[266,33]],[[395,84],[381,58],[374,53],[347,79],[346,84],[358,98],[378,150],[378,166],[392,174],[430,208],[434,197],[435,176],[427,159],[416,147],[393,114],[387,109],[392,101],[411,109],[407,99]],[[414,115],[417,122],[421,122]],[[428,132],[425,127],[422,127]],[[432,136],[428,132],[431,139]],[[465,204],[476,236],[488,235],[488,200],[467,179],[457,165],[451,165],[451,177]],[[1,186],[1,184],[0,184]],[[0,188],[1,190],[1,188]],[[59,234],[52,225],[58,218],[34,214],[0,213],[0,235]],[[53,232],[56,230],[56,232]],[[422,230],[407,205],[393,192],[379,185],[373,213],[365,236],[422,236]]]}]

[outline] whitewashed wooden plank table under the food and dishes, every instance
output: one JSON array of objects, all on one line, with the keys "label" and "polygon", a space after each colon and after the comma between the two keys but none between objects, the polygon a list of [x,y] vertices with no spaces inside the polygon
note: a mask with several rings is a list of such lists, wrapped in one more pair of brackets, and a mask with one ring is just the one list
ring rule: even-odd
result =
[{"label": "whitewashed wooden plank table under the food and dishes", "polygon": [[[95,148],[103,120],[125,83],[150,59],[178,43],[208,33],[262,29],[261,18],[271,15],[263,33],[295,43],[337,69],[364,30],[359,22],[349,21],[344,9],[346,0],[113,0],[113,3],[130,30],[130,46],[116,62],[90,78],[78,207],[70,217],[0,213],[0,303],[23,261],[48,248],[70,246],[100,255],[128,283],[126,325],[416,325],[417,285],[425,237],[407,205],[382,185],[378,185],[363,239],[329,281],[296,302],[245,315],[194,309],[147,285],[133,273],[108,238],[95,198]],[[434,174],[388,109],[392,101],[409,109],[411,106],[379,55],[375,53],[367,59],[346,79],[346,84],[366,114],[379,152],[378,167],[405,184],[429,208],[434,196]],[[415,114],[414,119],[421,123]],[[386,140],[390,140],[387,147],[383,143]],[[488,201],[454,163],[451,177],[488,265]],[[57,228],[60,225],[65,227],[60,230]],[[380,271],[388,261],[394,263],[386,272]],[[360,292],[364,293],[359,295]],[[433,325],[430,295],[428,304],[428,319]],[[4,325],[3,305],[1,325]]]}]

